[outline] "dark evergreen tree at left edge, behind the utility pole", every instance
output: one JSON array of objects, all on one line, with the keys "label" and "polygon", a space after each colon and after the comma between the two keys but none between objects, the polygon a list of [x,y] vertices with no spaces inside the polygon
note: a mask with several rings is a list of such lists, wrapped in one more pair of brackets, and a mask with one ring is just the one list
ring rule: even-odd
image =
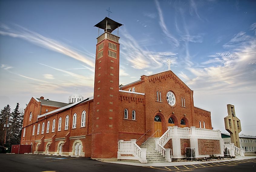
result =
[{"label": "dark evergreen tree at left edge, behind the utility pole", "polygon": [[[4,145],[4,140],[5,140],[5,131],[6,131],[6,135],[8,136],[9,131],[10,131],[10,127],[4,127],[5,124],[9,124],[9,120],[11,117],[11,107],[10,105],[7,105],[4,107],[4,109],[1,110],[1,114],[0,114],[0,145],[3,146]],[[6,137],[7,138],[7,137]],[[6,141],[6,143],[8,143]]]}]

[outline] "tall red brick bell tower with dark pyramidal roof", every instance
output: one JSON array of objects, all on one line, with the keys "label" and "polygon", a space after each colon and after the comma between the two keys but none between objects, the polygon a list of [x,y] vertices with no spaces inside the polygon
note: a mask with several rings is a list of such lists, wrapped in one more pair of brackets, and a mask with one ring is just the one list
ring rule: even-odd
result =
[{"label": "tall red brick bell tower with dark pyramidal roof", "polygon": [[91,158],[117,158],[119,38],[112,31],[122,26],[105,17],[95,25],[104,33],[97,38],[94,80],[94,116]]}]

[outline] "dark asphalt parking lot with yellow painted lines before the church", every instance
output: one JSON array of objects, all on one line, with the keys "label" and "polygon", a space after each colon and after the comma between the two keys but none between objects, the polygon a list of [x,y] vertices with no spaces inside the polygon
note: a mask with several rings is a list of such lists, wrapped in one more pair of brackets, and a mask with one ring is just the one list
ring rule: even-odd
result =
[{"label": "dark asphalt parking lot with yellow painted lines before the church", "polygon": [[[174,165],[172,165],[174,164]],[[176,163],[177,164],[177,163]],[[168,166],[134,166],[117,163],[106,163],[85,157],[60,157],[34,154],[0,154],[1,171],[3,172],[45,172],[45,171],[256,171],[256,158],[228,160],[219,162],[202,162],[198,164],[168,163]]]}]

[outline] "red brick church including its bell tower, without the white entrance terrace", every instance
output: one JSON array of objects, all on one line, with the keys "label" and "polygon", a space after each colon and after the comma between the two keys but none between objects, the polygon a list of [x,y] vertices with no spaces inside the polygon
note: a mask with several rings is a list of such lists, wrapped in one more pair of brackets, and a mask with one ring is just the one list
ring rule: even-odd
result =
[{"label": "red brick church including its bell tower, without the white entrance terrace", "polygon": [[118,140],[141,145],[170,126],[212,129],[211,112],[194,106],[193,91],[171,70],[119,87],[120,37],[112,31],[122,24],[106,17],[95,26],[105,32],[97,38],[94,95],[69,103],[32,97],[21,144],[32,153],[116,159]]}]

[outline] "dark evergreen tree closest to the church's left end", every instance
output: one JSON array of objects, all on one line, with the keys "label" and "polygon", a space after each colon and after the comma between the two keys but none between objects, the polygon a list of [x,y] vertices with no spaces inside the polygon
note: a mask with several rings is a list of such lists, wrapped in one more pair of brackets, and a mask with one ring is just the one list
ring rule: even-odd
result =
[{"label": "dark evergreen tree closest to the church's left end", "polygon": [[16,108],[13,110],[10,118],[10,132],[8,135],[8,141],[11,145],[20,144],[20,139],[22,136],[22,123],[23,123],[23,113],[19,111],[19,103],[17,103]]}]

